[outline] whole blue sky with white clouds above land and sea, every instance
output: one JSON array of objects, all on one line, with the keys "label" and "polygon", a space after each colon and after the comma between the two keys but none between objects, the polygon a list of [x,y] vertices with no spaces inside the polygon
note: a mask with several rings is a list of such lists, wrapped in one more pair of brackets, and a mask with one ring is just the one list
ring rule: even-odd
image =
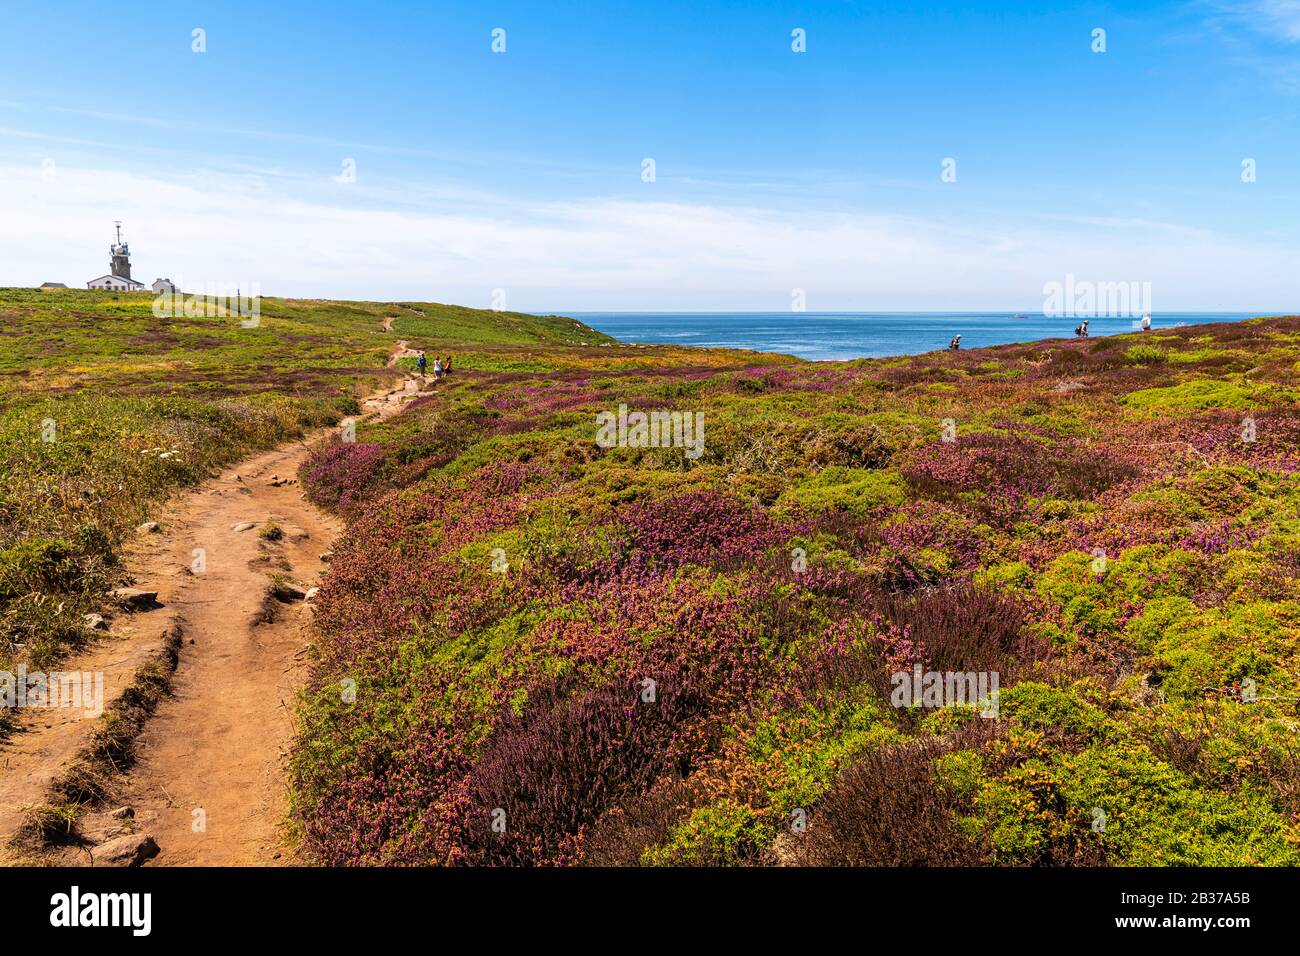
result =
[{"label": "whole blue sky with white clouds above land and sea", "polygon": [[1296,307],[1300,0],[265,7],[0,9],[0,284],[121,219],[138,277],[266,294]]}]

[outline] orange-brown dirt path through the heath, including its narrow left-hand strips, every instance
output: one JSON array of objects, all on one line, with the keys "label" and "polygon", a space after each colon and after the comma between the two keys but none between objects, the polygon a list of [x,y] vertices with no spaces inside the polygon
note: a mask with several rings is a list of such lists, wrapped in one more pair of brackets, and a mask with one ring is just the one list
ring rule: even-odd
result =
[{"label": "orange-brown dirt path through the heath, including its narrow left-hand strips", "polygon": [[[398,343],[389,364],[404,352],[406,342]],[[396,414],[421,384],[407,378],[370,397],[365,418]],[[309,441],[296,441],[246,459],[162,514],[162,533],[143,535],[127,554],[136,587],[156,589],[162,607],[120,615],[104,641],[64,666],[103,671],[107,704],[176,623],[183,631],[172,696],[146,724],[135,766],[114,788],[114,804],[131,806],[134,821],[113,818],[112,808],[87,813],[79,829],[91,843],[151,834],[160,852],[150,865],[292,862],[281,827],[285,758],[311,605],[268,601],[269,575],[313,585],[321,554],[342,529],[302,496],[295,476],[308,453]],[[281,529],[278,540],[263,533],[270,525]],[[23,805],[44,800],[95,724],[81,711],[39,711],[0,749],[0,842]],[[90,862],[90,851],[69,849],[60,861]]]}]

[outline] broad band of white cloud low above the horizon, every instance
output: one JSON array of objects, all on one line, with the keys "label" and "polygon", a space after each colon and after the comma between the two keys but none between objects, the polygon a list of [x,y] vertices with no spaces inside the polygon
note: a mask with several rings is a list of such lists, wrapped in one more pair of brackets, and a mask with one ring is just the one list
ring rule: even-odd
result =
[{"label": "broad band of white cloud low above the horizon", "polygon": [[257,174],[0,169],[0,285],[107,271],[268,295],[541,310],[1034,308],[1044,282],[1149,281],[1158,310],[1295,307],[1296,250],[1147,220],[940,219],[592,198],[514,202]]}]

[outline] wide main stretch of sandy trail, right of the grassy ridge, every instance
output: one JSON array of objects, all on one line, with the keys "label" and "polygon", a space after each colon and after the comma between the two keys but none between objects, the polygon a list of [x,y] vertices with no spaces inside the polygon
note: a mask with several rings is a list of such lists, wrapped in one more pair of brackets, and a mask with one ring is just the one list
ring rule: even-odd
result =
[{"label": "wide main stretch of sandy trail, right of the grassy ridge", "polygon": [[[304,678],[309,607],[277,602],[272,623],[259,617],[268,572],[311,585],[324,570],[320,554],[341,529],[296,484],[270,481],[295,475],[306,455],[306,445],[292,445],[240,463],[194,496],[174,536],[169,564],[188,567],[199,548],[207,568],[183,575],[173,597],[185,622],[173,696],[138,737],[138,760],[118,797],[134,808],[135,829],[159,843],[151,865],[283,858],[283,758]],[[278,542],[260,536],[272,522],[283,529]],[[83,829],[96,823],[109,825],[91,816]]]}]

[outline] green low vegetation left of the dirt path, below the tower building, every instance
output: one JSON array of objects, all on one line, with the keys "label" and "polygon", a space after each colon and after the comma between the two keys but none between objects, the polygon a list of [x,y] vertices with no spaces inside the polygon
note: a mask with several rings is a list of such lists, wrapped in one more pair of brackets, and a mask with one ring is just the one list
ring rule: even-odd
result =
[{"label": "green low vegetation left of the dirt path, below the tower building", "polygon": [[[455,346],[474,315],[432,303],[260,308],[244,328],[224,313],[159,319],[147,294],[0,290],[0,665],[46,667],[88,637],[84,615],[121,584],[124,540],[168,494],[360,411],[408,324],[430,347]],[[571,319],[477,315],[490,349],[608,341]],[[0,710],[0,732],[10,718]]]}]

